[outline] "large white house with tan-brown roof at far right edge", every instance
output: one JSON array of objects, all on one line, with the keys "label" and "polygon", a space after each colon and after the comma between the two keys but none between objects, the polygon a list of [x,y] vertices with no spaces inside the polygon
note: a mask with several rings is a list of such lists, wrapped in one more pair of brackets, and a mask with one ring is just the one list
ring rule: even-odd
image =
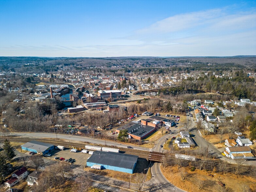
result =
[{"label": "large white house with tan-brown roof at far right edge", "polygon": [[231,157],[232,159],[254,158],[249,147],[226,147],[224,154],[226,157]]}]

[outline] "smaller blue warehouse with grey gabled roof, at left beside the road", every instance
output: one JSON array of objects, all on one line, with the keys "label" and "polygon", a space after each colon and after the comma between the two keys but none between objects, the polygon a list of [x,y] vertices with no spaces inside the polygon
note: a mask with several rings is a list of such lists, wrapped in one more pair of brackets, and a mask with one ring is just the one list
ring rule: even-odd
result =
[{"label": "smaller blue warehouse with grey gabled roof, at left beside the road", "polygon": [[40,141],[29,141],[21,146],[22,150],[31,151],[31,152],[42,152],[49,153],[54,150],[54,145],[50,143],[43,143]]}]

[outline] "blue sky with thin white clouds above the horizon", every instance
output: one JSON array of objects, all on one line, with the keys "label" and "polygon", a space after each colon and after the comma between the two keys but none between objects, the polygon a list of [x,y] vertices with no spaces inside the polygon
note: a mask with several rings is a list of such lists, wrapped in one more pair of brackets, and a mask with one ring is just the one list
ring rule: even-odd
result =
[{"label": "blue sky with thin white clouds above the horizon", "polygon": [[0,56],[256,55],[256,0],[0,0]]}]

